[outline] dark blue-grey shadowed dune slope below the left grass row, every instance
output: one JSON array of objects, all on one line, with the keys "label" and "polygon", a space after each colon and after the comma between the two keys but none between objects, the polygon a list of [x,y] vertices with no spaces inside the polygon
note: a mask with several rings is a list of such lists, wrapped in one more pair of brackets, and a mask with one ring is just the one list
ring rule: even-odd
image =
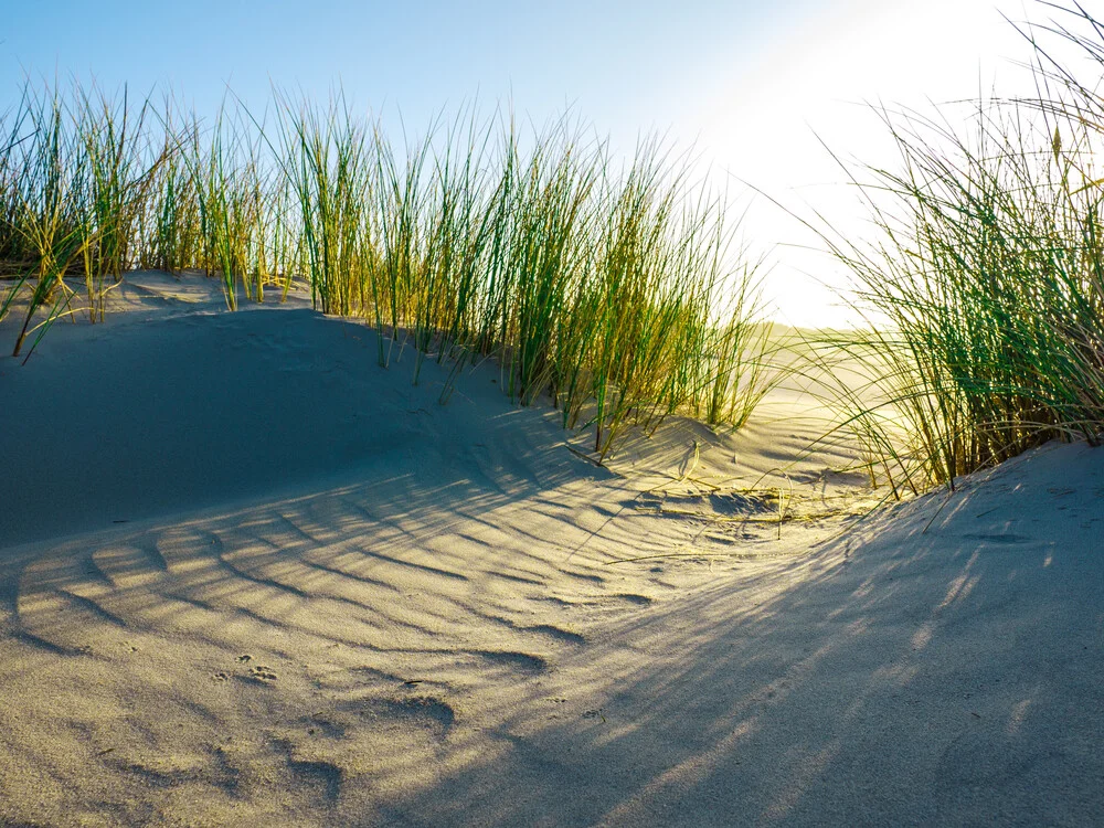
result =
[{"label": "dark blue-grey shadowed dune slope below the left grass row", "polygon": [[427,361],[414,386],[412,347],[380,368],[373,330],[308,309],[192,314],[110,333],[60,327],[35,363],[11,362],[0,378],[19,403],[0,406],[10,470],[0,549],[330,488],[380,467],[447,479],[470,459],[491,473],[479,482],[512,495],[586,465],[566,450],[533,456],[555,433],[551,412],[514,408],[486,376],[471,388],[461,376],[442,406],[445,369]]}]

